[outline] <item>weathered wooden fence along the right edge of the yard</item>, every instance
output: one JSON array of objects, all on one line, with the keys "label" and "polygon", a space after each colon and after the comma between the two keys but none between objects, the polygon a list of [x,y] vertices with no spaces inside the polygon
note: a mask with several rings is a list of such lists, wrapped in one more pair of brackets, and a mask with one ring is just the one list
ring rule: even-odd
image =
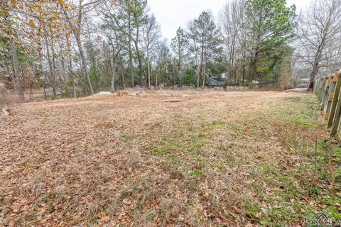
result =
[{"label": "weathered wooden fence along the right edge of the yard", "polygon": [[315,79],[314,92],[318,96],[325,121],[331,128],[330,136],[341,144],[341,77],[340,72]]}]

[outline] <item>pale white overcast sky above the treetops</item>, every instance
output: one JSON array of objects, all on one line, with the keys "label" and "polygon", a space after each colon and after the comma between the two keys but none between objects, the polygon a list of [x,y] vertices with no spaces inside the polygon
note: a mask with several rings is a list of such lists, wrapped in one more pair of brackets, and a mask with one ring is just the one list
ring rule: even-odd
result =
[{"label": "pale white overcast sky above the treetops", "polygon": [[[308,6],[311,0],[287,0],[288,5],[296,4],[298,11]],[[168,41],[175,36],[179,26],[185,28],[186,23],[197,18],[202,11],[210,9],[215,17],[227,0],[148,0],[151,8],[161,23],[163,37]]]}]

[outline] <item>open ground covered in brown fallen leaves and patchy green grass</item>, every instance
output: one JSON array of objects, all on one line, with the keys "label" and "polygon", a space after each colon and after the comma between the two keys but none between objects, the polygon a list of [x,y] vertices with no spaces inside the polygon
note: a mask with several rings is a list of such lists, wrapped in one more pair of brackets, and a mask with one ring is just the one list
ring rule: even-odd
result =
[{"label": "open ground covered in brown fallen leaves and patchy green grass", "polygon": [[95,95],[12,113],[0,116],[0,226],[341,219],[341,150],[313,94]]}]

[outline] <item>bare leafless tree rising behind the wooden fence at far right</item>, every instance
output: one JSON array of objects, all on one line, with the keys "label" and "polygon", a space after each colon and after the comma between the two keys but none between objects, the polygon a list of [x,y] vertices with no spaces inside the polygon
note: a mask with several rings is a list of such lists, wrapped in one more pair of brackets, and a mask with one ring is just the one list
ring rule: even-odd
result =
[{"label": "bare leafless tree rising behind the wooden fence at far right", "polygon": [[[310,84],[323,67],[334,65],[340,56],[341,1],[313,1],[308,10],[298,17],[296,55],[310,65]],[[340,62],[337,62],[340,63]]]}]

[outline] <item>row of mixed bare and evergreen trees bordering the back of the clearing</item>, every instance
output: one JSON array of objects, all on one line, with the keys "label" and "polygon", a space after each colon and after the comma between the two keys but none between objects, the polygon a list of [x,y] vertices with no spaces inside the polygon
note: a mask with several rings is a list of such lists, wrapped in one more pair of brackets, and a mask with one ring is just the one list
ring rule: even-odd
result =
[{"label": "row of mixed bare and evergreen trees bordering the back of the clearing", "polygon": [[340,66],[340,9],[338,0],[299,13],[285,0],[231,0],[166,40],[147,0],[0,0],[0,82],[21,99],[33,86],[71,98],[211,79],[287,84],[301,69],[312,87]]}]

